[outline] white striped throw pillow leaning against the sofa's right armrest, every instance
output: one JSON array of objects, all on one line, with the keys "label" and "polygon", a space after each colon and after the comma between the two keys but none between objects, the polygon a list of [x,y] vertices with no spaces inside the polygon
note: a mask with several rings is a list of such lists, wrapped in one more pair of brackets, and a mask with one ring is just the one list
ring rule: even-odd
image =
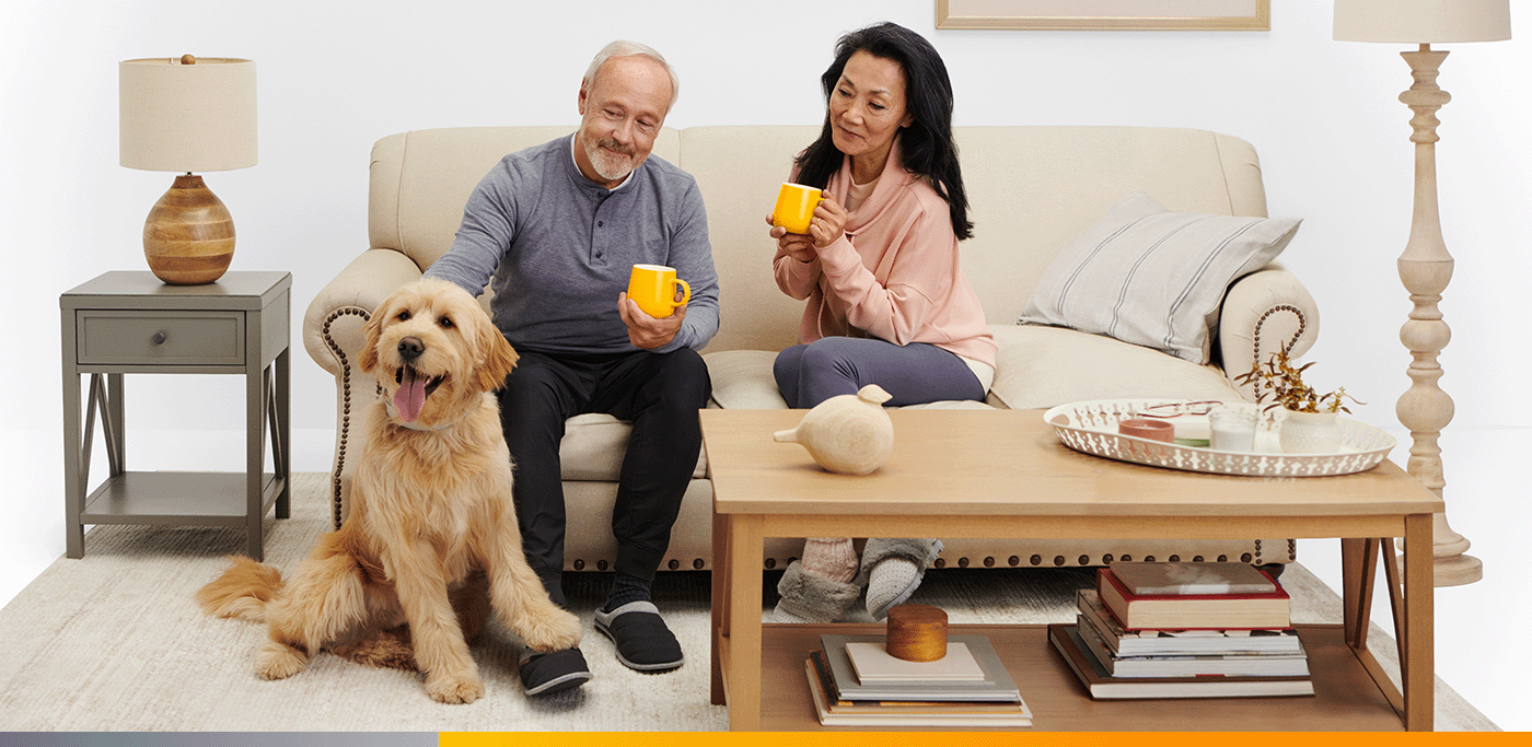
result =
[{"label": "white striped throw pillow leaning against the sofa's right armrest", "polygon": [[1229,283],[1270,263],[1301,222],[1170,213],[1135,191],[1054,257],[1017,323],[1207,363]]}]

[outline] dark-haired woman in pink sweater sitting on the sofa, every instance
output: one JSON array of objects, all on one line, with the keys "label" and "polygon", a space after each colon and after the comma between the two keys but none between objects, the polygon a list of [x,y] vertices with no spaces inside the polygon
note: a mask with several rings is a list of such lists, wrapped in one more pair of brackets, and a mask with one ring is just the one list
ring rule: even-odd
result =
[{"label": "dark-haired woman in pink sweater sitting on the sofa", "polygon": [[[958,262],[973,223],[947,66],[919,34],[881,23],[841,37],[821,83],[824,129],[791,181],[824,199],[807,234],[771,230],[777,286],[807,300],[803,344],[777,357],[778,390],[792,407],[866,384],[893,406],[984,400],[996,346]],[[810,537],[778,583],[777,615],[833,621],[867,585],[881,620],[938,551],[935,539],[870,539],[858,562],[850,537]]]}]

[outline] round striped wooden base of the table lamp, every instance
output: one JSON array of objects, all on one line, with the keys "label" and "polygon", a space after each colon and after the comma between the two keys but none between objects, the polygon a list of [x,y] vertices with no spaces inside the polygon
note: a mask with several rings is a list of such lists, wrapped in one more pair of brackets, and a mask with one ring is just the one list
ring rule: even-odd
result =
[{"label": "round striped wooden base of the table lamp", "polygon": [[234,260],[234,217],[196,175],[176,176],[144,222],[144,259],[170,285],[204,285]]}]

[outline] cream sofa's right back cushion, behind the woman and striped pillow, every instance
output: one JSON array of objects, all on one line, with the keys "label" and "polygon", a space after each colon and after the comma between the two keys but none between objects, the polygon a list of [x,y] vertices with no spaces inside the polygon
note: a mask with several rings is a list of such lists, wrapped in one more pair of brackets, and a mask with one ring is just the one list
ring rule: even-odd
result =
[{"label": "cream sofa's right back cushion, behind the woman and striped pillow", "polygon": [[[702,185],[723,318],[708,351],[795,343],[801,302],[777,291],[766,213],[818,127],[682,130],[682,168]],[[1011,325],[1054,256],[1112,205],[1144,191],[1169,210],[1265,216],[1250,144],[1155,127],[958,127],[974,236],[962,266],[988,323]]]}]

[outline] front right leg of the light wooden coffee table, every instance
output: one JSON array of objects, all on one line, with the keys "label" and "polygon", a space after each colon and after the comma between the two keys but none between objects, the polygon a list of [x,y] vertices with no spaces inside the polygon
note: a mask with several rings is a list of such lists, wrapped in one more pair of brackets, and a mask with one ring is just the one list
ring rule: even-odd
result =
[{"label": "front right leg of the light wooden coffee table", "polygon": [[[1393,559],[1390,559],[1393,562]],[[1405,517],[1405,614],[1399,667],[1405,690],[1405,729],[1429,732],[1435,715],[1435,574],[1432,517]]]}]

